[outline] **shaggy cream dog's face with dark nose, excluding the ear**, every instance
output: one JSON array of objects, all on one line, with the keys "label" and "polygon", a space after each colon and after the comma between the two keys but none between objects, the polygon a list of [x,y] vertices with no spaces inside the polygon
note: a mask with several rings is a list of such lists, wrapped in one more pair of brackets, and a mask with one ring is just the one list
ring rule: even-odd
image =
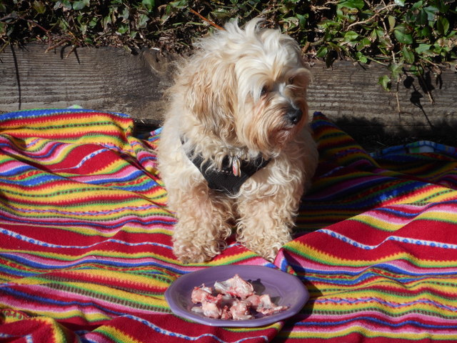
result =
[{"label": "shaggy cream dog's face with dark nose, excluding the ear", "polygon": [[[298,64],[297,54],[283,51],[281,59],[276,54],[270,64],[260,65],[253,56],[246,56],[236,64],[238,111],[234,122],[238,140],[249,149],[272,155],[308,121],[309,73]],[[268,56],[262,57],[268,60]]]}]

